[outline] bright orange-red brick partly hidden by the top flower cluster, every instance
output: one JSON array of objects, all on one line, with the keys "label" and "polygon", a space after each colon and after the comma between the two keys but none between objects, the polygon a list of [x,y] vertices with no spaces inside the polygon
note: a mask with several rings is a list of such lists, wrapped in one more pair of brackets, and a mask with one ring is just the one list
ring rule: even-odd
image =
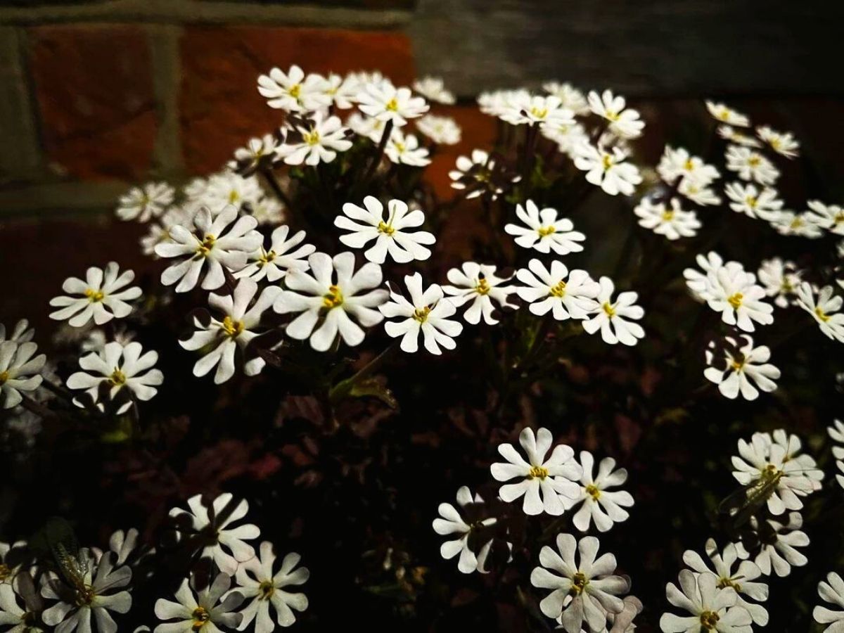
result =
[{"label": "bright orange-red brick partly hidden by the top flower cluster", "polygon": [[181,142],[187,170],[218,170],[247,138],[268,133],[279,113],[258,95],[273,66],[306,73],[379,69],[397,84],[414,78],[407,36],[395,32],[269,27],[187,27],[181,39]]}]

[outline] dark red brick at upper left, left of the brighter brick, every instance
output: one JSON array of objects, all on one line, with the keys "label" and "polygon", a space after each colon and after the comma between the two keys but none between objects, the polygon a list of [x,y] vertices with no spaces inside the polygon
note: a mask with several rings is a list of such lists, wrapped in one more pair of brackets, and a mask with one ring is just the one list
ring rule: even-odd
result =
[{"label": "dark red brick at upper left, left of the brighter brick", "polygon": [[156,128],[143,30],[41,26],[29,35],[48,160],[81,179],[142,177],[151,164]]}]

